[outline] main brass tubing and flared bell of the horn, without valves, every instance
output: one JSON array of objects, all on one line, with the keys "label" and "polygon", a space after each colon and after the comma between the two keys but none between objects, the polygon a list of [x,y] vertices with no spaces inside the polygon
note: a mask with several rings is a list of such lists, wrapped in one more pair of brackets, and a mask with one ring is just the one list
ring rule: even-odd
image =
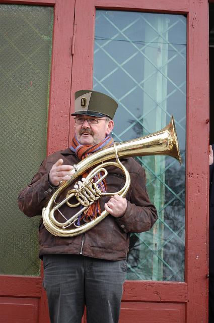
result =
[{"label": "main brass tubing and flared bell of the horn, without valves", "polygon": [[[175,123],[173,116],[171,117],[171,121],[168,126],[163,128],[162,130],[148,135],[146,137],[140,137],[137,139],[114,143],[114,146],[108,147],[106,149],[99,150],[87,158],[80,161],[75,166],[76,172],[72,174],[72,177],[66,181],[61,187],[59,187],[56,192],[50,198],[47,207],[43,208],[42,217],[43,223],[46,229],[53,235],[60,237],[72,237],[78,234],[81,234],[85,231],[90,230],[92,227],[97,225],[100,221],[102,221],[107,215],[108,212],[104,210],[101,215],[78,228],[74,229],[61,229],[62,226],[65,226],[70,223],[72,218],[68,219],[65,223],[60,224],[54,218],[54,210],[57,206],[53,207],[56,197],[63,191],[66,187],[70,186],[74,181],[85,173],[87,170],[95,167],[98,164],[102,163],[102,167],[104,166],[116,166],[120,168],[126,177],[126,182],[124,187],[119,191],[121,196],[124,196],[128,191],[130,186],[130,176],[126,168],[120,163],[119,157],[134,157],[134,156],[146,156],[146,155],[169,155],[176,158],[181,164],[181,156],[179,151],[178,139],[175,129]],[[108,161],[103,164],[104,161],[116,158],[116,163],[114,161]],[[96,167],[94,171],[97,171],[99,166]],[[92,171],[93,173],[93,171]],[[114,193],[117,194],[118,192]],[[108,193],[106,194],[108,195]],[[111,194],[112,195],[112,194]],[[64,199],[64,202],[67,199]],[[62,202],[60,202],[60,205]]]}]

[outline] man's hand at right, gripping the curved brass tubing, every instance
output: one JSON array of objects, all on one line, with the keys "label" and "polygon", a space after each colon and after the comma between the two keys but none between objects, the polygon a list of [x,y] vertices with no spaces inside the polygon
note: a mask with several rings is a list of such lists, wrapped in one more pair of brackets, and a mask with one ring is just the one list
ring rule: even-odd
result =
[{"label": "man's hand at right, gripping the curved brass tubing", "polygon": [[123,216],[127,208],[127,200],[120,195],[114,195],[110,200],[105,203],[105,209],[109,214],[115,218],[120,218]]}]

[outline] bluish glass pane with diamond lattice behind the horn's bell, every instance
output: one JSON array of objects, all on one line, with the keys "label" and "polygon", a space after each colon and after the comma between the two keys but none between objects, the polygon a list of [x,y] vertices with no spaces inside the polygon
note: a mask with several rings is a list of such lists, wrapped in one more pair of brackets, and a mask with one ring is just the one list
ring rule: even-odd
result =
[{"label": "bluish glass pane with diamond lattice behind the horn's bell", "polygon": [[119,103],[116,141],[154,133],[175,118],[182,166],[170,156],[136,158],[159,220],[131,235],[126,279],[184,281],[186,17],[97,10],[93,89]]}]

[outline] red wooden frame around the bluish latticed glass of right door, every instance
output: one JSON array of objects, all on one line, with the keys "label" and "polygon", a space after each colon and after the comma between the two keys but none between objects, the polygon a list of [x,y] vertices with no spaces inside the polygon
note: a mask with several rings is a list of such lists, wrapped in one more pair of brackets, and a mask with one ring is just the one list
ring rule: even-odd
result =
[{"label": "red wooden frame around the bluish latticed glass of right door", "polygon": [[[84,8],[84,11],[81,8]],[[187,16],[185,282],[126,281],[122,301],[127,304],[132,302],[132,307],[136,300],[153,302],[154,305],[157,302],[185,304],[185,322],[205,322],[207,320],[206,274],[208,273],[208,2],[194,0],[161,2],[117,0],[116,4],[114,0],[76,2],[72,97],[77,90],[92,88],[96,9]],[[78,67],[82,66],[82,62],[84,62],[84,71],[80,73]],[[74,109],[73,102],[71,109]],[[70,129],[72,127],[71,120]],[[73,133],[70,135],[72,137]],[[148,321],[151,319],[149,315],[151,312],[148,314]]]}]

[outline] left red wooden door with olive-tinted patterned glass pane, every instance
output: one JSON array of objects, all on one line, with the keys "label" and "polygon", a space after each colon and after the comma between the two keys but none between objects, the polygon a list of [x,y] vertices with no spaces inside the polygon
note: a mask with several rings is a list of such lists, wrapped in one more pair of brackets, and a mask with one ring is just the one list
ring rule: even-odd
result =
[{"label": "left red wooden door with olive-tinted patterned glass pane", "polygon": [[[17,210],[16,200],[18,191],[28,185],[45,154],[68,145],[74,5],[73,0],[0,1],[1,23],[5,21],[0,31],[3,41],[0,91],[2,113],[6,116],[1,117],[1,129],[9,130],[1,137],[5,138],[6,146],[10,145],[12,137],[15,147],[18,147],[16,151],[13,149],[15,158],[12,164],[11,150],[4,151],[4,165],[8,163],[5,165],[8,172],[4,168],[2,181],[6,181],[10,173],[13,173],[13,180],[9,180],[1,190],[4,194],[12,189],[11,197],[1,198],[2,323],[49,321],[38,259],[37,217],[25,217]],[[45,14],[47,11],[49,20]],[[43,52],[42,48],[46,50]],[[37,109],[42,111],[42,116],[35,111]],[[13,129],[16,129],[15,133]],[[34,136],[36,142],[33,141]],[[37,155],[35,150],[34,156],[32,154],[29,158],[31,140],[33,147],[41,146],[41,153]],[[26,156],[24,146],[28,147]],[[25,161],[27,156],[28,165]],[[6,200],[12,210],[4,208]],[[33,251],[35,258],[32,258]]]}]

